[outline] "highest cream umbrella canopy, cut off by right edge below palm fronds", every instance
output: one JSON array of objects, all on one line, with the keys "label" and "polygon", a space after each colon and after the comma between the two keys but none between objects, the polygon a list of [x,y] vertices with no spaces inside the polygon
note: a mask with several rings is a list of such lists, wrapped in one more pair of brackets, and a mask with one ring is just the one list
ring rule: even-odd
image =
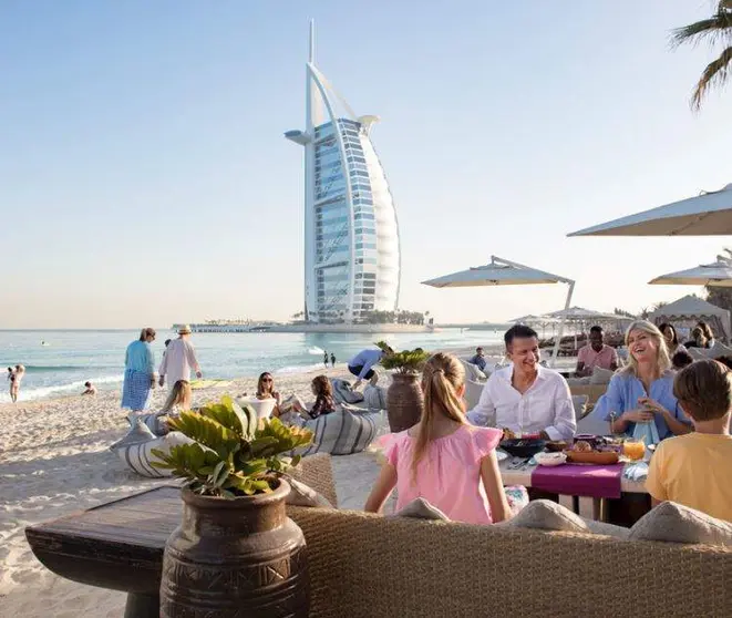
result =
[{"label": "highest cream umbrella canopy, cut off by right edge below palm fronds", "polygon": [[568,236],[731,236],[732,184]]}]

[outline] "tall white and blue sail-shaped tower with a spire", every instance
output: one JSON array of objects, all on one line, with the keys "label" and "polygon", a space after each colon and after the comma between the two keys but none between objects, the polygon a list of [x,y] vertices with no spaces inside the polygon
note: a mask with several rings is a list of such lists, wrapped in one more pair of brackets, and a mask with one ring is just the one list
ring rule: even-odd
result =
[{"label": "tall white and blue sail-shaped tower with a spire", "polygon": [[312,23],[306,72],[306,130],[285,134],[305,147],[306,319],[350,323],[396,308],[396,213],[369,136],[379,119],[355,116],[316,68]]}]

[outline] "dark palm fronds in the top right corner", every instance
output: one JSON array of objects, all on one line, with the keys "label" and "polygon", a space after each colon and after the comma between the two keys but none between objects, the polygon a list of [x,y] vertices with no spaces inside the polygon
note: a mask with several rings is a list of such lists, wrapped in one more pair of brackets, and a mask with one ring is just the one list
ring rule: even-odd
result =
[{"label": "dark palm fronds in the top right corner", "polygon": [[719,0],[716,12],[709,19],[678,28],[671,34],[673,47],[683,43],[694,45],[702,41],[726,45],[716,60],[707,65],[691,96],[691,107],[701,109],[701,103],[710,87],[722,87],[732,73],[732,0]]}]

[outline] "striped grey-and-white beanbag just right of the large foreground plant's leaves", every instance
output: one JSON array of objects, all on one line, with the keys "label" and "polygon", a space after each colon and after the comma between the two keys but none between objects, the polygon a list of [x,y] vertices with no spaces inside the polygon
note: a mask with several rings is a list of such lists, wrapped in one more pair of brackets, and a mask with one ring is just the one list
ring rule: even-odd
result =
[{"label": "striped grey-and-white beanbag just right of the large foreground plant's leaves", "polygon": [[348,410],[339,410],[312,421],[298,422],[298,425],[312,431],[315,436],[310,446],[298,449],[295,453],[300,455],[360,453],[375,437],[377,422],[380,418],[379,413],[358,414]]}]

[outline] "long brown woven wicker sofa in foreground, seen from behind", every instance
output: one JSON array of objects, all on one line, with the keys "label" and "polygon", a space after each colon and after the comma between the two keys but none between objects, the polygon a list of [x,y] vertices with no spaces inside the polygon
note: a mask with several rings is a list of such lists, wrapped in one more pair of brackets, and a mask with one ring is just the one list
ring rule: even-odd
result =
[{"label": "long brown woven wicker sofa in foreground, seen from behind", "polygon": [[[303,464],[334,502],[330,459]],[[308,543],[312,618],[732,616],[732,548],[289,512]]]}]

